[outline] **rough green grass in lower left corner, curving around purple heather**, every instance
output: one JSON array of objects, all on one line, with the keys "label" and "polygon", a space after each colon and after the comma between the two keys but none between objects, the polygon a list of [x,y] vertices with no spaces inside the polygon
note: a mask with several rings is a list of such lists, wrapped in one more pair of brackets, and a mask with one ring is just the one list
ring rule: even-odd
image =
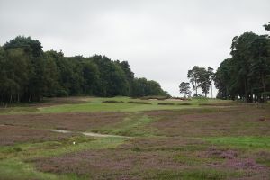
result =
[{"label": "rough green grass in lower left corner, curving around purple heather", "polygon": [[[76,180],[87,179],[78,175],[55,175],[42,173],[34,169],[24,160],[35,157],[55,157],[62,154],[82,151],[86,149],[108,149],[121,145],[125,138],[87,138],[84,136],[72,137],[65,141],[47,141],[43,143],[25,143],[14,147],[0,147],[0,180]],[[73,142],[76,142],[73,145]],[[20,149],[20,150],[18,150]],[[2,160],[1,160],[2,159]]]}]

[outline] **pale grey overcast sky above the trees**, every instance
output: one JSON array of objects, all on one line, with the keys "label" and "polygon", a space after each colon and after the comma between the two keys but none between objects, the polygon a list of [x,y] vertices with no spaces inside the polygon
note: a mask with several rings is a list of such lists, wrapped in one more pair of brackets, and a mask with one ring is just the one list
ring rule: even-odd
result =
[{"label": "pale grey overcast sky above the trees", "polygon": [[0,45],[24,35],[65,56],[127,60],[179,96],[188,69],[216,69],[234,36],[269,21],[269,0],[0,0]]}]

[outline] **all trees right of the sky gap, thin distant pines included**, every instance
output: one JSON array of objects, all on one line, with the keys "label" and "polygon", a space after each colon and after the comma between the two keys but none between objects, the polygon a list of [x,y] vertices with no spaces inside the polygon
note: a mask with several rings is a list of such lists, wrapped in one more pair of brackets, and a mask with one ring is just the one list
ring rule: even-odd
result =
[{"label": "all trees right of the sky gap, thin distant pines included", "polygon": [[[264,27],[270,31],[270,23]],[[214,81],[220,99],[266,103],[270,97],[270,36],[245,32],[233,38],[230,49],[231,57],[223,60],[215,73],[211,67],[194,66],[188,71],[194,96],[206,96]],[[180,93],[191,95],[190,83],[182,82]]]}]

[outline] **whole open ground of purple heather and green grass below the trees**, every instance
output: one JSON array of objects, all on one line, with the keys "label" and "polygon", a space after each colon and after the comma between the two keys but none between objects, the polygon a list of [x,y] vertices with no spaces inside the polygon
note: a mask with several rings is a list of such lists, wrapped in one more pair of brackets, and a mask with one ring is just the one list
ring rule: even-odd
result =
[{"label": "whole open ground of purple heather and green grass below the trees", "polygon": [[269,105],[48,99],[0,109],[0,179],[269,179],[269,139]]}]

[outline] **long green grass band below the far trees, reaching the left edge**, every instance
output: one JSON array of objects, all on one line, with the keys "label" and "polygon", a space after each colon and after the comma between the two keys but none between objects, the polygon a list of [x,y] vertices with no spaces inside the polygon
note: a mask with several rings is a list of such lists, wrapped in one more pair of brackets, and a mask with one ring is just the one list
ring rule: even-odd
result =
[{"label": "long green grass band below the far trees, reaching the left edge", "polygon": [[[51,102],[49,102],[51,101]],[[117,101],[123,103],[102,103],[103,101]],[[81,103],[67,103],[67,104],[53,104],[52,100],[47,100],[46,103],[52,103],[49,107],[38,107],[41,103],[35,103],[37,106],[23,105],[7,108],[0,108],[0,114],[11,113],[59,113],[59,112],[143,112],[153,110],[179,110],[186,108],[200,108],[201,103],[219,103],[224,101],[215,99],[193,99],[188,101],[189,105],[176,105],[185,104],[187,102],[178,101],[162,101],[162,100],[141,100],[131,99],[130,97],[112,97],[112,98],[99,98],[89,97],[87,101]],[[128,102],[142,102],[150,104],[128,103]],[[157,105],[158,103],[173,103],[173,105]],[[230,103],[230,101],[226,101]]]}]

